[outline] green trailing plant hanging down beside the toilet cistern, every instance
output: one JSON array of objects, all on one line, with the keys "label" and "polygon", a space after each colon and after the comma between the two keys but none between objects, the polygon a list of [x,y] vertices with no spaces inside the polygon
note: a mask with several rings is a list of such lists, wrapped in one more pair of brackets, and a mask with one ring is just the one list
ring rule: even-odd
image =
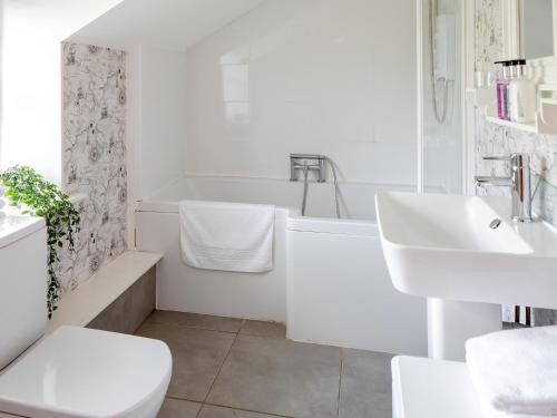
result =
[{"label": "green trailing plant hanging down beside the toilet cistern", "polygon": [[74,251],[74,235],[79,232],[79,212],[69,201],[68,195],[58,186],[47,182],[35,169],[27,166],[8,168],[0,174],[4,196],[11,206],[21,207],[21,213],[45,217],[48,245],[48,318],[58,308],[60,301],[60,281],[55,264],[60,261],[59,252],[63,241]]}]

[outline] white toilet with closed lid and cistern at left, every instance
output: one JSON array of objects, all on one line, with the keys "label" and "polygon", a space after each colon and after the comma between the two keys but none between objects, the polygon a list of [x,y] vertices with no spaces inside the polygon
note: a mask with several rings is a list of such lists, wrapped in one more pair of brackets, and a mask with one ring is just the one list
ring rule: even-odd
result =
[{"label": "white toilet with closed lid and cistern at left", "polygon": [[155,418],[168,347],[74,327],[43,337],[46,260],[43,220],[0,217],[0,418]]}]

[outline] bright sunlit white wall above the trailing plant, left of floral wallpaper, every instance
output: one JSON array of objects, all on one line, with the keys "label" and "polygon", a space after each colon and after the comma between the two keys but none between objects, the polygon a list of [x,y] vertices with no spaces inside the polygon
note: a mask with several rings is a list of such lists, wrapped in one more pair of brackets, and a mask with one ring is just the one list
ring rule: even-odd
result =
[{"label": "bright sunlit white wall above the trailing plant, left of floral wallpaper", "polygon": [[3,1],[0,169],[28,164],[60,184],[60,42],[120,1]]}]

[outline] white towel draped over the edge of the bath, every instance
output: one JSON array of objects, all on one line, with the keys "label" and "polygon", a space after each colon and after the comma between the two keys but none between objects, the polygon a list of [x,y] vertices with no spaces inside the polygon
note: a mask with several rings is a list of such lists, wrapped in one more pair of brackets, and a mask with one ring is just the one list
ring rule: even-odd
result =
[{"label": "white towel draped over the edge of the bath", "polygon": [[274,206],[183,201],[179,214],[186,264],[248,273],[273,270]]}]

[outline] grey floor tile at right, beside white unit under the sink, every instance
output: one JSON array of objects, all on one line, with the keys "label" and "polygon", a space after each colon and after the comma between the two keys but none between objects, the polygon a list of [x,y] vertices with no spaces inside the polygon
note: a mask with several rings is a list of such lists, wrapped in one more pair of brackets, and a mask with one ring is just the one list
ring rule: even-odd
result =
[{"label": "grey floor tile at right, beside white unit under the sink", "polygon": [[342,350],[340,418],[391,418],[392,357]]}]

